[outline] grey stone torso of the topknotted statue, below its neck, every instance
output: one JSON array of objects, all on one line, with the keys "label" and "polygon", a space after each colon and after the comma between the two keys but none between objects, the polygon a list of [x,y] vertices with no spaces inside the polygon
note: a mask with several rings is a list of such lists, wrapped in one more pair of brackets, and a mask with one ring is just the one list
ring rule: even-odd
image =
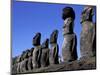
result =
[{"label": "grey stone torso of the topknotted statue, below its neck", "polygon": [[62,46],[62,55],[64,62],[70,62],[77,59],[77,43],[76,35],[70,34],[64,36]]}]

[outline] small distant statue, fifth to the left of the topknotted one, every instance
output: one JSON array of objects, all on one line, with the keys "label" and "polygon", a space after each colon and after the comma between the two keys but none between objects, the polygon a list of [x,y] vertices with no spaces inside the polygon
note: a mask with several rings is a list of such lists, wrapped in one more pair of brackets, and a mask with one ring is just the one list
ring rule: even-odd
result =
[{"label": "small distant statue, fifth to the left of the topknotted one", "polygon": [[21,60],[21,65],[20,65],[20,72],[26,72],[28,70],[27,64],[28,64],[28,52],[29,49],[27,49],[26,51],[24,51],[22,53],[22,60]]}]

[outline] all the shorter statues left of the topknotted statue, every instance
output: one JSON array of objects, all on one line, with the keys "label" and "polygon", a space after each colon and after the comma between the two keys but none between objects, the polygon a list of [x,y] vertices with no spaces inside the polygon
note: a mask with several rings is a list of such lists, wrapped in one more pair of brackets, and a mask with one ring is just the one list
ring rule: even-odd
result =
[{"label": "all the shorter statues left of the topknotted statue", "polygon": [[59,64],[59,48],[57,44],[58,30],[54,30],[49,39],[46,39],[42,44],[41,33],[36,33],[33,37],[34,48],[27,49],[16,58],[16,63],[12,66],[14,73],[22,73],[31,71],[36,68],[47,67],[53,64]]}]

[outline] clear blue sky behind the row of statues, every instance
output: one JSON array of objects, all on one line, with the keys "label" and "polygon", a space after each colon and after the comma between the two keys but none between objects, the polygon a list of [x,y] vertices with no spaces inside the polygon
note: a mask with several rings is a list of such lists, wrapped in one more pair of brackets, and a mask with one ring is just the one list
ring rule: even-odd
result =
[{"label": "clear blue sky behind the row of statues", "polygon": [[[76,18],[74,32],[77,35],[77,52],[80,57],[80,15],[83,5],[50,4],[37,2],[13,1],[12,4],[12,56],[20,55],[22,51],[32,48],[32,38],[35,33],[41,33],[41,43],[50,38],[54,29],[59,30],[58,44],[61,55],[63,35],[62,9],[70,6],[74,9]],[[93,18],[95,21],[95,16]]]}]

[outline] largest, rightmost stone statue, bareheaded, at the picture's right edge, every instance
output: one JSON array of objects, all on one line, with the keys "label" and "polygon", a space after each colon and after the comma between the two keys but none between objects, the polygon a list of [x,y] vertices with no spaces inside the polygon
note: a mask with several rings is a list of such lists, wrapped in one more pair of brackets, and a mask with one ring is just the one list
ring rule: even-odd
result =
[{"label": "largest, rightmost stone statue, bareheaded, at the picture's right edge", "polygon": [[80,36],[81,57],[91,57],[95,55],[96,47],[96,27],[93,23],[93,6],[84,7],[81,14],[82,31]]}]

